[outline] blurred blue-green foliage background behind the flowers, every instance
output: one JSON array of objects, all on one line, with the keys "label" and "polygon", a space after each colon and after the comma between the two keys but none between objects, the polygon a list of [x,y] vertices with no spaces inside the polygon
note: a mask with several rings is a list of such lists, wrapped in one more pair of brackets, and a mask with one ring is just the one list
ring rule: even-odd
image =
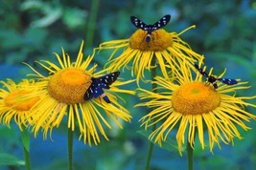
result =
[{"label": "blurred blue-green foliage background behind the flowers", "polygon": [[[214,67],[215,74],[227,68],[230,78],[241,78],[252,86],[241,95],[254,96],[256,77],[256,1],[226,0],[136,0],[136,1],[0,1],[0,79],[19,81],[31,73],[21,62],[31,64],[40,71],[35,60],[56,62],[54,52],[61,47],[75,59],[81,40],[85,41],[84,53],[92,53],[92,47],[113,39],[128,38],[136,29],[129,16],[135,15],[146,23],[154,23],[165,14],[171,14],[168,32],[181,32],[196,24],[197,29],[181,35],[192,49],[205,55],[205,64]],[[104,66],[107,55],[98,54],[95,62]],[[131,78],[128,73],[124,74]],[[124,76],[123,75],[123,76]],[[131,89],[135,89],[133,84]],[[147,112],[145,108],[133,108],[139,99],[124,96],[133,119],[124,123],[124,129],[107,130],[110,141],[89,147],[74,139],[76,169],[82,170],[140,170],[143,169],[148,140],[137,131],[142,130],[138,119]],[[255,103],[255,100],[253,101]],[[255,109],[249,110],[256,114]],[[252,130],[244,132],[244,139],[235,139],[234,146],[221,143],[214,154],[202,151],[196,145],[195,169],[197,170],[251,170],[256,167],[256,122],[247,123]],[[19,131],[0,125],[0,153],[23,159]],[[33,170],[60,170],[67,167],[65,124],[53,132],[53,140],[31,136]],[[179,157],[176,150],[166,151],[154,147],[151,169],[186,169],[186,153]],[[1,166],[2,170],[25,169],[24,166]]]}]

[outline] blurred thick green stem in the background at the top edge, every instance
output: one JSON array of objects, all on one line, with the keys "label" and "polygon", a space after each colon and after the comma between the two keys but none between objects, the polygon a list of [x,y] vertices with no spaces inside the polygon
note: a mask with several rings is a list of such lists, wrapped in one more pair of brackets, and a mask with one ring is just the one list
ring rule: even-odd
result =
[{"label": "blurred thick green stem in the background at the top edge", "polygon": [[95,31],[95,25],[96,25],[96,19],[97,19],[97,13],[99,10],[99,4],[100,0],[93,0],[91,1],[91,11],[89,14],[89,18],[87,20],[87,29],[86,29],[86,47],[92,48],[93,44],[93,37],[94,37],[94,31]]}]

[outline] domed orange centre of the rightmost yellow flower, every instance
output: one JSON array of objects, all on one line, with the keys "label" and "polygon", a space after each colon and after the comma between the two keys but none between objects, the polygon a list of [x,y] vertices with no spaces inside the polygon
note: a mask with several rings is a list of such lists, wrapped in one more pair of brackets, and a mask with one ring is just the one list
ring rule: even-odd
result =
[{"label": "domed orange centre of the rightmost yellow flower", "polygon": [[184,115],[209,113],[221,102],[217,91],[202,82],[193,82],[181,86],[174,92],[172,104],[176,112]]}]

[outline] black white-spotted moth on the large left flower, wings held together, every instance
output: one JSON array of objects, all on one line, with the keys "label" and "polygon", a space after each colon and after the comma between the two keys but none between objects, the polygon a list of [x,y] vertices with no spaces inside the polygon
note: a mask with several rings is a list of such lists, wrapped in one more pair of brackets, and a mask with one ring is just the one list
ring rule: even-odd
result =
[{"label": "black white-spotted moth on the large left flower, wings held together", "polygon": [[92,83],[88,90],[85,92],[83,99],[89,100],[92,97],[97,98],[102,96],[107,103],[111,103],[109,98],[105,95],[103,89],[110,89],[110,85],[115,82],[120,72],[113,72],[111,74],[105,74],[104,76],[100,76],[98,78],[92,77]]}]

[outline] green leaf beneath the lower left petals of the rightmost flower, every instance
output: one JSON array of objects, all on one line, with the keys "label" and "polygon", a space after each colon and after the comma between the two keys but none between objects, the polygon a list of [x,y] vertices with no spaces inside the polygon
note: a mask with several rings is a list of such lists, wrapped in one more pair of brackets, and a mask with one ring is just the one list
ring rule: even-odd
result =
[{"label": "green leaf beneath the lower left petals of the rightmost flower", "polygon": [[[148,139],[150,138],[150,135],[151,135],[151,132],[146,131],[146,130],[140,130],[140,131],[137,131],[137,133],[139,133],[140,135],[142,135],[143,137],[146,137]],[[150,140],[150,141],[151,141],[151,143],[159,146],[157,143],[154,143],[152,140]],[[171,151],[171,152],[177,151],[177,143],[174,138],[167,138],[165,141],[162,141],[162,146],[159,146],[159,147],[161,147],[162,149]]]}]

